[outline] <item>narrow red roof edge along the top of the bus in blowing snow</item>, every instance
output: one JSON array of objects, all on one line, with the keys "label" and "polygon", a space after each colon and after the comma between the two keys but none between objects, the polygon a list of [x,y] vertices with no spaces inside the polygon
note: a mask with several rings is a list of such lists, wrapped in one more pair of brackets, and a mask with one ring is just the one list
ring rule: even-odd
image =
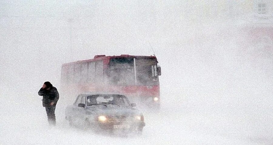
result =
[{"label": "narrow red roof edge along the top of the bus in blowing snow", "polygon": [[118,55],[118,56],[106,56],[106,55],[95,55],[93,59],[89,59],[89,60],[79,60],[79,61],[75,61],[75,62],[70,62],[70,63],[63,63],[62,66],[66,66],[66,65],[70,65],[70,64],[78,64],[78,63],[88,63],[88,62],[92,62],[92,61],[97,61],[97,60],[110,60],[111,58],[127,58],[127,57],[135,57],[135,58],[153,58],[153,59],[157,59],[156,56],[136,56],[136,55],[127,55],[127,54],[122,54],[122,55]]}]

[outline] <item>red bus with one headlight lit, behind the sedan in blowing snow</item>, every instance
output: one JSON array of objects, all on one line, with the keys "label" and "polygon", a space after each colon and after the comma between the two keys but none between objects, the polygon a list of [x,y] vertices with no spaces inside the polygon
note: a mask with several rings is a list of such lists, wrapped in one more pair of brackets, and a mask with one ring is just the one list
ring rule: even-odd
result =
[{"label": "red bus with one headlight lit, behind the sedan in blowing snow", "polygon": [[119,92],[141,107],[160,108],[161,68],[156,56],[105,56],[62,64],[61,90],[69,102],[79,92]]}]

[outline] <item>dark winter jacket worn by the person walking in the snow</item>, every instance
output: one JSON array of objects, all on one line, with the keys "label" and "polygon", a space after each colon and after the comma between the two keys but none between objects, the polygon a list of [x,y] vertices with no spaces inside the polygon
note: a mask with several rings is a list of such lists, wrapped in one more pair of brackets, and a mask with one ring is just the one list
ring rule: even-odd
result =
[{"label": "dark winter jacket worn by the person walking in the snow", "polygon": [[43,107],[50,107],[50,103],[54,102],[54,105],[56,106],[58,100],[59,100],[59,92],[55,87],[50,87],[49,90],[41,88],[38,92],[38,95],[43,96]]}]

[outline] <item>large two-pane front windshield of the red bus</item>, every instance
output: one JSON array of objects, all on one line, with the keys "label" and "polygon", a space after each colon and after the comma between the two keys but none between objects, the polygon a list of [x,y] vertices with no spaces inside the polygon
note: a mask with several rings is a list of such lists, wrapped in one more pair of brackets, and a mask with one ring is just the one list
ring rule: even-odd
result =
[{"label": "large two-pane front windshield of the red bus", "polygon": [[112,58],[108,76],[110,83],[114,85],[157,85],[157,60],[153,58]]}]

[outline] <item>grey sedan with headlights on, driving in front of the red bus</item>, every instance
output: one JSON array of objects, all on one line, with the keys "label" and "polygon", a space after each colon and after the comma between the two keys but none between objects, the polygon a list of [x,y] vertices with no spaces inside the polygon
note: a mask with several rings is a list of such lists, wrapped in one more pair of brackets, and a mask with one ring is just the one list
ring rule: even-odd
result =
[{"label": "grey sedan with headlights on, driving in front of the red bus", "polygon": [[126,131],[141,134],[145,126],[143,114],[133,108],[120,93],[88,92],[79,94],[73,105],[66,107],[70,125],[99,131]]}]

